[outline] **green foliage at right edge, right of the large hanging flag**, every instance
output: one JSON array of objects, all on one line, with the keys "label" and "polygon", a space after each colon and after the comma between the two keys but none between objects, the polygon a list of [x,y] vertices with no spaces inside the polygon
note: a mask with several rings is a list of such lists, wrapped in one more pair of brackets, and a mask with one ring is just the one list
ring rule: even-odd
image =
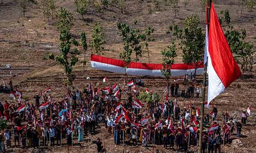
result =
[{"label": "green foliage at right edge, right of the large hanging flag", "polygon": [[253,44],[244,41],[246,31],[243,29],[240,33],[236,30],[232,30],[232,27],[230,27],[230,30],[226,31],[225,36],[231,52],[236,54],[234,58],[241,64],[242,71],[251,71],[256,49]]}]

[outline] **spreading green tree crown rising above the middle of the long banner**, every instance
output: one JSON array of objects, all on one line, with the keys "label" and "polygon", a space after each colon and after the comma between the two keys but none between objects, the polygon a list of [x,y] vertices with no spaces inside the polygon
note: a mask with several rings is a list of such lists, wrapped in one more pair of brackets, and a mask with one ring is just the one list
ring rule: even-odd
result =
[{"label": "spreading green tree crown rising above the middle of the long banner", "polygon": [[[137,21],[134,22],[135,24]],[[146,40],[146,35],[140,33],[139,29],[133,29],[129,25],[124,22],[117,23],[118,30],[121,31],[120,36],[124,42],[124,52],[119,54],[119,57],[123,59],[126,64],[131,62],[132,52],[135,53],[136,59],[135,61],[139,61],[138,57],[142,56],[142,45],[141,41]],[[151,31],[148,31],[148,34],[151,35]]]}]

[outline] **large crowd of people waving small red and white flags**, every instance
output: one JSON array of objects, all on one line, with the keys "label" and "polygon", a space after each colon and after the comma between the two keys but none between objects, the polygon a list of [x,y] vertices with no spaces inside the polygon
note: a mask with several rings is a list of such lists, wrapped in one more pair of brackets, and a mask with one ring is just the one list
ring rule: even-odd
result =
[{"label": "large crowd of people waving small red and white flags", "polygon": [[[194,97],[194,92],[199,98],[201,89],[195,86],[193,78],[190,80],[186,84],[187,92],[179,91],[176,81],[165,90],[163,100],[152,94],[152,101],[147,103],[140,95],[153,91],[141,87],[144,86],[141,79],[137,84],[133,79],[121,86],[116,83],[105,88],[93,88],[89,83],[87,89],[69,90],[60,101],[52,98],[50,88],[36,94],[34,100],[23,99],[22,92],[11,89],[11,97],[18,102],[0,103],[0,118],[8,124],[0,134],[0,152],[5,152],[6,147],[73,145],[74,139],[82,142],[88,135],[95,135],[97,128],[105,128],[117,145],[163,145],[166,149],[186,152],[199,144],[201,116],[199,107],[192,103],[184,105],[178,100],[182,99],[179,97]],[[210,109],[211,113],[203,115],[202,149],[203,152],[220,152],[221,144],[229,142],[235,126],[237,136],[241,136],[248,114],[243,112],[240,121],[225,111],[223,121],[217,121],[217,108],[211,105]],[[100,138],[95,144],[98,152],[104,151]]]}]

